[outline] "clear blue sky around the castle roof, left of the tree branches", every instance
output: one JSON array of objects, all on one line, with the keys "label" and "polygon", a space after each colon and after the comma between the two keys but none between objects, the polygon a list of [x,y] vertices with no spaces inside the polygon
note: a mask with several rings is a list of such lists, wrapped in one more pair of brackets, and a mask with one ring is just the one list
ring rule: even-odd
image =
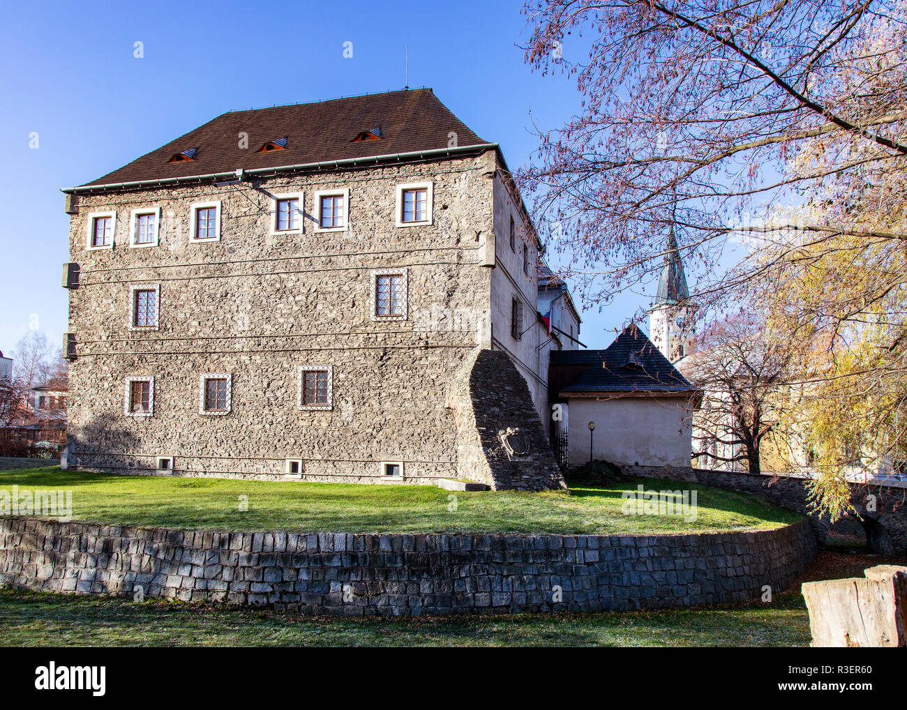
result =
[{"label": "clear blue sky around the castle roof, left of the tree branches", "polygon": [[[512,169],[557,127],[575,84],[533,74],[516,46],[521,3],[27,3],[0,26],[0,350],[37,327],[66,330],[61,188],[93,180],[219,113],[404,85],[435,94]],[[144,56],[133,56],[134,44]],[[343,56],[345,42],[353,57]],[[30,147],[36,132],[38,147]],[[655,285],[650,288],[654,289]],[[608,345],[645,297],[583,312],[582,340]]]}]

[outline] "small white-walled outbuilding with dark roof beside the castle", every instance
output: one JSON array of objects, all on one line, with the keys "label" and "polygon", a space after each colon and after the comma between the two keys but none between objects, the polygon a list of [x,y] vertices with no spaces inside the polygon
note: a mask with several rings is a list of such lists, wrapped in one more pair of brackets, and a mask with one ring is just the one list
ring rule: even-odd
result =
[{"label": "small white-walled outbuilding with dark roof beside the castle", "polygon": [[636,324],[604,350],[552,351],[549,387],[568,423],[570,466],[690,465],[702,393]]}]

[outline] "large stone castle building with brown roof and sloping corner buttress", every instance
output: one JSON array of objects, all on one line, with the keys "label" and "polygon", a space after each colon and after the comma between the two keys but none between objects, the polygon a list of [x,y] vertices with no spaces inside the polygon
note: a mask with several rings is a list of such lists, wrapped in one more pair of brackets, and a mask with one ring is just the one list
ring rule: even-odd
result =
[{"label": "large stone castle building with brown roof and sloping corner buttress", "polygon": [[563,485],[575,343],[499,146],[430,89],[225,113],[63,191],[67,465]]}]

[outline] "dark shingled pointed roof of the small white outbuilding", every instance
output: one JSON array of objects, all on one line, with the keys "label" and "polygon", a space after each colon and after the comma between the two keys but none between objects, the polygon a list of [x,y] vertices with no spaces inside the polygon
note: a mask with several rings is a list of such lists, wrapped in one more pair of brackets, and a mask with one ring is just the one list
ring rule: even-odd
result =
[{"label": "dark shingled pointed roof of the small white outbuilding", "polygon": [[562,394],[698,392],[636,324],[604,350],[551,351],[551,365],[588,365]]}]

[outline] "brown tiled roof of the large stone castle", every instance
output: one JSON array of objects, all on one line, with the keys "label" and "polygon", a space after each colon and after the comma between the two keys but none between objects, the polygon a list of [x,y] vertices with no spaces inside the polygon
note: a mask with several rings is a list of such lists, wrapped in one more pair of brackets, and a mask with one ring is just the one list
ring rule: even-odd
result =
[{"label": "brown tiled roof of the large stone castle", "polygon": [[[380,127],[380,141],[352,142]],[[370,93],[346,99],[298,103],[269,109],[233,111],[186,133],[156,151],[86,185],[166,180],[244,170],[277,168],[330,160],[431,151],[486,143],[434,96],[431,89]],[[239,133],[249,148],[239,148]],[[287,148],[258,152],[268,141],[287,137]],[[181,151],[198,149],[196,160],[168,162]]]}]

